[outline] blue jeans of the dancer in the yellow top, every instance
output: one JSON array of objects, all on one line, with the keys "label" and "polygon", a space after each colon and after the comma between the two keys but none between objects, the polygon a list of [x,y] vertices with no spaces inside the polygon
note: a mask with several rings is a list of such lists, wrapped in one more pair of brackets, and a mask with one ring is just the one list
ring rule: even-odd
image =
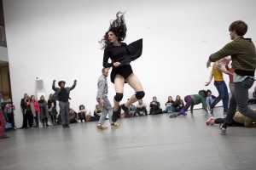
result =
[{"label": "blue jeans of the dancer in the yellow top", "polygon": [[215,105],[217,105],[220,100],[222,100],[224,112],[228,112],[229,111],[229,92],[228,92],[226,83],[224,81],[215,81],[214,86],[218,90],[218,97],[216,99],[214,99],[214,101],[211,105],[211,109]]}]

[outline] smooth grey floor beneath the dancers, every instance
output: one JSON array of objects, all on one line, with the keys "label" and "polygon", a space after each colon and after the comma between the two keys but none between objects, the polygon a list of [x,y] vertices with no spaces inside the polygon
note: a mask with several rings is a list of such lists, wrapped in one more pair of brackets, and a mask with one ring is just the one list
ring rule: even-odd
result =
[{"label": "smooth grey floor beneath the dancers", "polygon": [[256,169],[256,128],[229,127],[223,136],[206,126],[209,117],[196,110],[123,119],[104,131],[96,122],[19,129],[0,140],[0,169]]}]

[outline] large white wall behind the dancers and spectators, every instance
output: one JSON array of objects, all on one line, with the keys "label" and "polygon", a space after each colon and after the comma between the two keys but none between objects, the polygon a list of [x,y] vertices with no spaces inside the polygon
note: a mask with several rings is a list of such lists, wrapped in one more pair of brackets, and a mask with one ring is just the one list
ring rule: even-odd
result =
[{"label": "large white wall behind the dancers and spectators", "polygon": [[[67,86],[77,79],[71,107],[78,111],[84,104],[94,110],[103,55],[98,41],[118,10],[126,11],[125,42],[143,37],[143,55],[131,65],[143,82],[147,104],[154,95],[164,105],[169,95],[184,97],[207,89],[207,58],[230,42],[232,21],[247,22],[246,37],[256,39],[253,0],[3,0],[3,7],[18,127],[20,99],[24,93],[35,94],[36,77],[44,80],[46,99],[53,93],[53,79],[65,80]],[[113,84],[108,83],[113,99]],[[218,94],[213,84],[208,88]],[[133,93],[125,85],[123,101]]]}]

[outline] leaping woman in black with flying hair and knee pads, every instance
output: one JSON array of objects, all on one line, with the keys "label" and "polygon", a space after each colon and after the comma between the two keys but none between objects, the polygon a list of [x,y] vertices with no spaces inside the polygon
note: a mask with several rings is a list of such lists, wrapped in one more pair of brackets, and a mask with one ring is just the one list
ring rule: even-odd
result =
[{"label": "leaping woman in black with flying hair and knee pads", "polygon": [[[113,122],[116,122],[118,119],[117,111],[119,102],[123,99],[125,82],[136,92],[125,104],[120,105],[125,111],[125,116],[129,117],[129,107],[131,104],[138,99],[143,99],[145,95],[142,83],[133,73],[130,65],[131,61],[139,58],[143,53],[143,39],[127,45],[123,42],[126,37],[126,31],[124,13],[118,12],[116,20],[111,21],[108,31],[101,41],[104,48],[103,67],[113,67],[110,76],[116,92],[113,99]],[[109,58],[111,63],[108,63]]]}]

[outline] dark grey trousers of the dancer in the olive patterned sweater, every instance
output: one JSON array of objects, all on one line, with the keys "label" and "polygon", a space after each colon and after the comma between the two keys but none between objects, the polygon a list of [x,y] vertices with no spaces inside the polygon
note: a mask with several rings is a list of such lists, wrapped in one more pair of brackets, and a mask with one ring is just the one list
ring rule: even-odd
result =
[{"label": "dark grey trousers of the dancer in the olive patterned sweater", "polygon": [[241,112],[242,115],[253,119],[256,122],[256,111],[253,111],[248,107],[248,89],[253,86],[253,78],[247,77],[242,82],[234,82],[235,84],[235,94],[231,96],[230,108],[227,116],[225,117],[225,122],[230,124],[233,117],[236,114],[236,108]]}]

